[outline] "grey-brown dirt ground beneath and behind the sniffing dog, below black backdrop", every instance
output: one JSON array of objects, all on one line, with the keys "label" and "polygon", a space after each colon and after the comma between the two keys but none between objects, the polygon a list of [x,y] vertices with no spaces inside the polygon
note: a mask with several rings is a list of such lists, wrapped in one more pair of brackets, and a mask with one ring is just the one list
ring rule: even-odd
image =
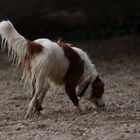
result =
[{"label": "grey-brown dirt ground beneath and behind the sniffing dog, below black backdrop", "polygon": [[0,52],[0,140],[139,140],[140,37],[72,41],[86,50],[105,82],[106,108],[86,99],[83,115],[64,92],[48,95],[42,115],[24,120],[31,99],[21,72]]}]

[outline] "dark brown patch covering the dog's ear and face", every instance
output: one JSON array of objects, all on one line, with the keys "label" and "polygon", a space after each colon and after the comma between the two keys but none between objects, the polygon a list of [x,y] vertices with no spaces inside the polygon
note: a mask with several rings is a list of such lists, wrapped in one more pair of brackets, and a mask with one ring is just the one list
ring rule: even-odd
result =
[{"label": "dark brown patch covering the dog's ear and face", "polygon": [[100,79],[99,76],[95,79],[95,81],[92,83],[92,97],[93,98],[101,98],[104,93],[104,83]]}]

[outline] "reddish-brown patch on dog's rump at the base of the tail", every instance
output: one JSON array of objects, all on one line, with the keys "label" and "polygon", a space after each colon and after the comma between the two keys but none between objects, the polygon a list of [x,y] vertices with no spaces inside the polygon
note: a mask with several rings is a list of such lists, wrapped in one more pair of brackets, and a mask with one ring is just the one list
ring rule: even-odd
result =
[{"label": "reddish-brown patch on dog's rump at the base of the tail", "polygon": [[24,71],[29,71],[31,69],[30,61],[31,61],[32,57],[34,55],[37,55],[40,52],[42,52],[42,50],[43,50],[42,45],[40,45],[40,44],[38,44],[36,42],[27,40],[27,53],[21,59],[21,62],[20,62]]}]

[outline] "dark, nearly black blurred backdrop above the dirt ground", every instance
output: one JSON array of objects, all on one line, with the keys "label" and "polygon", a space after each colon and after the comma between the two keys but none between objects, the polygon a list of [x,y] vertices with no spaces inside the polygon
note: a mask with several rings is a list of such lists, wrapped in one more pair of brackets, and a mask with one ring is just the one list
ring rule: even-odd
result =
[{"label": "dark, nearly black blurred backdrop above the dirt ground", "polygon": [[3,0],[0,19],[30,39],[104,39],[140,33],[140,1]]}]

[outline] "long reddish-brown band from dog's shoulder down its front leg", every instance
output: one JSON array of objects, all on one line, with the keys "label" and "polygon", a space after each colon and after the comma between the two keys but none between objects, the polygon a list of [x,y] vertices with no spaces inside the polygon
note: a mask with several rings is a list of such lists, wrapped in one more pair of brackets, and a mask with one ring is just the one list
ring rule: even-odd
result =
[{"label": "long reddish-brown band from dog's shoulder down its front leg", "polygon": [[65,42],[58,41],[57,44],[63,49],[65,56],[69,60],[69,68],[64,77],[66,93],[74,105],[78,106],[78,98],[75,87],[83,75],[84,61],[81,59],[79,54]]}]

